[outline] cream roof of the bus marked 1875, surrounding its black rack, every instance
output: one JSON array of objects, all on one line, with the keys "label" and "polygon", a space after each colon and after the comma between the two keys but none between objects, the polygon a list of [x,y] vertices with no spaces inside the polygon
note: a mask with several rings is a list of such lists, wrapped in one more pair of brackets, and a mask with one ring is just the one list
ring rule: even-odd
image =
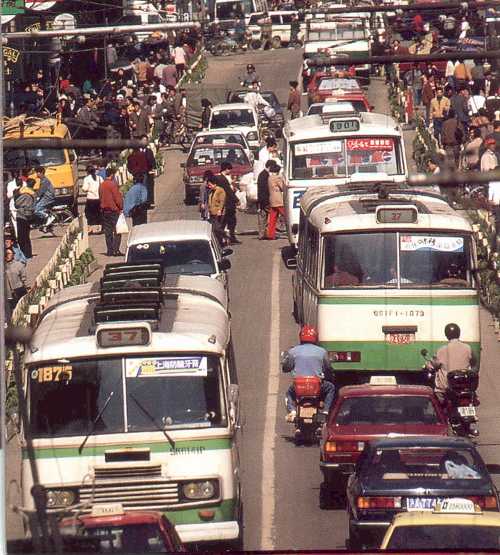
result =
[{"label": "cream roof of the bus marked 1875, surrounding its black rack", "polygon": [[167,276],[162,290],[168,295],[162,301],[158,329],[153,329],[150,345],[102,348],[97,344],[93,323],[100,284],[63,289],[40,315],[26,362],[58,360],[64,354],[78,359],[154,352],[223,352],[230,337],[224,284],[207,276]]}]

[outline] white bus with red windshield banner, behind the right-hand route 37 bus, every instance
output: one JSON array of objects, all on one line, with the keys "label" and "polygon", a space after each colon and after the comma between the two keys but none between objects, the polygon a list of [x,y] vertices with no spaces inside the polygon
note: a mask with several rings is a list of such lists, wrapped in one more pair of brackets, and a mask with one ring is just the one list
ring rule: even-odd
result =
[{"label": "white bus with red windshield banner, behind the right-hand route 37 bus", "polygon": [[408,165],[400,125],[390,116],[360,113],[346,102],[289,121],[283,129],[285,220],[297,246],[300,199],[305,191],[360,181],[406,181]]}]

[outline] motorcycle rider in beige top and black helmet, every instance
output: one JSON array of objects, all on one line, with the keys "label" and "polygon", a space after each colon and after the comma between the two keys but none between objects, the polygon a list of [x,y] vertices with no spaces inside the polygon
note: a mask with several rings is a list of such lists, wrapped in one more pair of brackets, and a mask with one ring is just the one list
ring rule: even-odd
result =
[{"label": "motorcycle rider in beige top and black helmet", "polygon": [[460,341],[460,327],[458,324],[447,324],[444,328],[444,334],[448,343],[438,349],[433,360],[433,363],[438,366],[434,391],[441,402],[444,401],[448,389],[448,372],[472,368],[477,362],[470,345]]}]

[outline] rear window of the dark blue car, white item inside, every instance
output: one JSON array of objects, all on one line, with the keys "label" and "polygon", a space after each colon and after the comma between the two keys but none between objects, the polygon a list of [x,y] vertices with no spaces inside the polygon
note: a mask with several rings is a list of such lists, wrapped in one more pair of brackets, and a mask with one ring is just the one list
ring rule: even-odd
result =
[{"label": "rear window of the dark blue car, white item inside", "polygon": [[[412,484],[422,481],[472,483],[489,479],[488,471],[473,449],[425,445],[375,449],[364,461],[362,472],[374,480]],[[412,508],[418,508],[418,504],[414,503]]]}]

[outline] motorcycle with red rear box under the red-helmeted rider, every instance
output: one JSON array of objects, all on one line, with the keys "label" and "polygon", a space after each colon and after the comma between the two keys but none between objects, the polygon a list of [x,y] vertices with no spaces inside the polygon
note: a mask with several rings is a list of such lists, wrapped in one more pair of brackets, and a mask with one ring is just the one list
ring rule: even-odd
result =
[{"label": "motorcycle with red rear box under the red-helmeted rider", "polygon": [[295,444],[314,443],[319,439],[324,418],[321,413],[321,379],[317,376],[295,376],[293,379],[297,404],[294,420]]}]

